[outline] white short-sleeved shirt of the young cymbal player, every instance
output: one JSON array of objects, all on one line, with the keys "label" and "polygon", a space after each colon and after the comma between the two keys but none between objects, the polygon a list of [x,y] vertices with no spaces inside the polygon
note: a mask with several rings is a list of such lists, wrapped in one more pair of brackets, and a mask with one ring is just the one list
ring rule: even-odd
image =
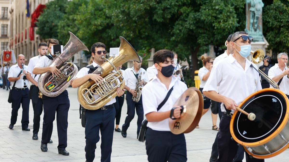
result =
[{"label": "white short-sleeved shirt of the young cymbal player", "polygon": [[[150,112],[157,112],[157,108],[164,98],[168,91],[174,86],[171,95],[168,97],[166,103],[160,108],[158,112],[166,112],[173,108],[173,105],[177,101],[177,99],[186,91],[187,85],[184,82],[178,80],[175,76],[172,76],[171,83],[168,87],[160,82],[160,79],[155,76],[153,80],[148,82],[142,88],[142,106],[144,109],[144,114],[148,114]],[[159,121],[159,122],[148,122],[147,127],[156,130],[156,131],[170,131],[168,126],[169,118]]]}]

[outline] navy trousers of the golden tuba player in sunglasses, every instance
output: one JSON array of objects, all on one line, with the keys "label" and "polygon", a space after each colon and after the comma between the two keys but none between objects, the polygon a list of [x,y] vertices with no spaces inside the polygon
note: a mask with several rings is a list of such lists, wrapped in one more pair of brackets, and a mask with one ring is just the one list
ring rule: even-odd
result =
[{"label": "navy trousers of the golden tuba player in sunglasses", "polygon": [[86,110],[85,114],[85,157],[87,162],[95,158],[96,143],[101,133],[101,162],[110,162],[114,132],[115,108],[107,110]]}]

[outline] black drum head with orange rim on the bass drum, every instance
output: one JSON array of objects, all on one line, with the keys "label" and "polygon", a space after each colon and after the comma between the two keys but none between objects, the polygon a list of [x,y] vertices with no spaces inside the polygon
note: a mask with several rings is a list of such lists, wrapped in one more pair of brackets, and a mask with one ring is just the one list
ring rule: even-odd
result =
[{"label": "black drum head with orange rim on the bass drum", "polygon": [[260,141],[272,138],[274,132],[284,125],[284,119],[288,118],[286,103],[288,103],[286,95],[273,88],[266,88],[250,95],[239,107],[248,113],[253,112],[256,119],[251,121],[245,114],[236,111],[230,125],[234,140],[242,145],[244,143],[248,145],[260,144]]}]

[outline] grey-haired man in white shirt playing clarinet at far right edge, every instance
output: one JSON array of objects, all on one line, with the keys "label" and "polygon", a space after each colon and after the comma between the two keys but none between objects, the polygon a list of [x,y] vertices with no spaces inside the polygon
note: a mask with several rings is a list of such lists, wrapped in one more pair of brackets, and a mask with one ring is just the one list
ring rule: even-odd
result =
[{"label": "grey-haired man in white shirt playing clarinet at far right edge", "polygon": [[[284,52],[279,53],[277,60],[278,63],[269,69],[268,77],[276,82],[280,87],[280,91],[289,97],[289,69],[287,68],[288,55]],[[273,86],[270,85],[270,88],[273,88]]]}]

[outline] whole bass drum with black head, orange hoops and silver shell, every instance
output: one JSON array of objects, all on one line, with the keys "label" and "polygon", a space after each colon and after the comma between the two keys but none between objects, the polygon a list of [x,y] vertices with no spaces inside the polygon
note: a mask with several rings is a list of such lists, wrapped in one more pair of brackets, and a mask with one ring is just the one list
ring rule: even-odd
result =
[{"label": "whole bass drum with black head, orange hoops and silver shell", "polygon": [[273,88],[251,94],[239,108],[253,112],[256,118],[251,121],[236,111],[230,123],[232,137],[257,159],[280,154],[289,146],[288,103],[287,96]]}]

